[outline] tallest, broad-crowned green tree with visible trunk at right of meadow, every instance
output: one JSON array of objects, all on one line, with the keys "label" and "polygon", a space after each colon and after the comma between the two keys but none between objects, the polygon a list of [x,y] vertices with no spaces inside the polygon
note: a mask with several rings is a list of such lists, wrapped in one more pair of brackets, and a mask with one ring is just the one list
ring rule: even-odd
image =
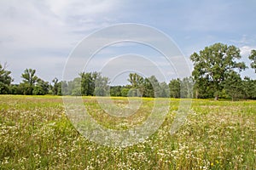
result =
[{"label": "tallest, broad-crowned green tree with visible trunk at right of meadow", "polygon": [[242,71],[246,68],[241,59],[240,49],[233,45],[227,46],[223,43],[215,43],[204,48],[199,54],[194,53],[190,56],[194,64],[192,76],[195,80],[195,87],[201,87],[201,81],[208,82],[214,90],[215,99],[224,88],[224,80],[231,71],[238,69]]}]

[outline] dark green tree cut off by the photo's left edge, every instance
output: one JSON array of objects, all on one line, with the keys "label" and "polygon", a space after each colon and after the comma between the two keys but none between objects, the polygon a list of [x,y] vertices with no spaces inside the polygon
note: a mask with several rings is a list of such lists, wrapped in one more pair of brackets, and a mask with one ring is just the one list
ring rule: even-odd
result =
[{"label": "dark green tree cut off by the photo's left edge", "polygon": [[0,64],[0,94],[9,94],[10,83],[13,79],[10,77],[11,71],[6,71],[6,64]]}]

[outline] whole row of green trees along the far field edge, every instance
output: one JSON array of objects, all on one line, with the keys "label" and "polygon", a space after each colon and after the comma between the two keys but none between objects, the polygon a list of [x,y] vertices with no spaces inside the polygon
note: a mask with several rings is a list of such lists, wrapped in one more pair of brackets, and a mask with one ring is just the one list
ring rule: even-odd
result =
[{"label": "whole row of green trees along the far field edge", "polygon": [[[252,50],[248,58],[252,61],[249,66],[256,73],[256,50]],[[190,59],[194,64],[191,77],[166,83],[159,82],[154,75],[144,78],[130,73],[129,84],[125,86],[110,86],[109,78],[96,71],[81,72],[69,82],[57,78],[46,82],[37,77],[33,69],[26,69],[21,74],[22,82],[12,84],[11,71],[0,64],[0,94],[256,99],[256,80],[241,77],[241,71],[248,66],[239,61],[239,48],[215,43],[191,54]]]}]

